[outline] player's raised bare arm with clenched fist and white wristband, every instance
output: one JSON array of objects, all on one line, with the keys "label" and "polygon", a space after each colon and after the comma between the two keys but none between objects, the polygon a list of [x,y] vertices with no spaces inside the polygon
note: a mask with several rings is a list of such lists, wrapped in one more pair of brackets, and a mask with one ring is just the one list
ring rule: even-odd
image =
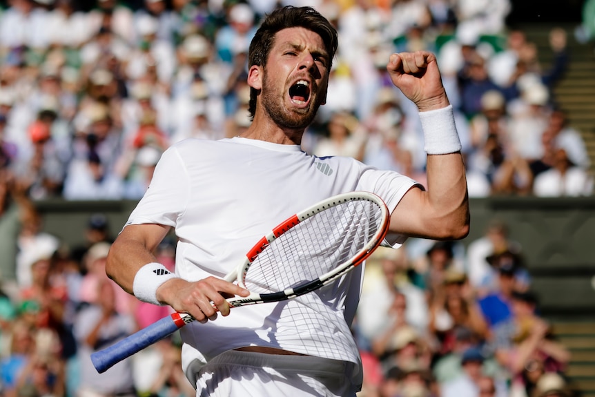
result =
[{"label": "player's raised bare arm with clenched fist and white wristband", "polygon": [[391,214],[391,231],[434,240],[469,233],[469,197],[452,108],[436,57],[427,51],[393,54],[393,84],[418,106],[425,136],[427,191],[411,188]]}]

